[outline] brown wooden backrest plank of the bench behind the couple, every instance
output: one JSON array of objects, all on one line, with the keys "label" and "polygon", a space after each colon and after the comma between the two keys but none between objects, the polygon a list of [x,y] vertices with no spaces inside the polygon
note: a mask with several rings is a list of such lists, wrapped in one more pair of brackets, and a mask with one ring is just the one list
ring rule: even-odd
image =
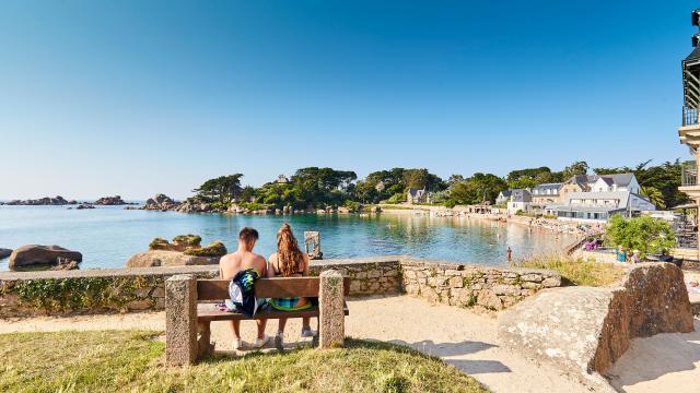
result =
[{"label": "brown wooden backrest plank of the bench behind the couple", "polygon": [[[223,300],[229,298],[229,279],[198,279],[197,300]],[[255,283],[255,296],[259,298],[317,297],[318,277],[260,278]],[[343,278],[343,293],[350,293],[350,278]]]}]

